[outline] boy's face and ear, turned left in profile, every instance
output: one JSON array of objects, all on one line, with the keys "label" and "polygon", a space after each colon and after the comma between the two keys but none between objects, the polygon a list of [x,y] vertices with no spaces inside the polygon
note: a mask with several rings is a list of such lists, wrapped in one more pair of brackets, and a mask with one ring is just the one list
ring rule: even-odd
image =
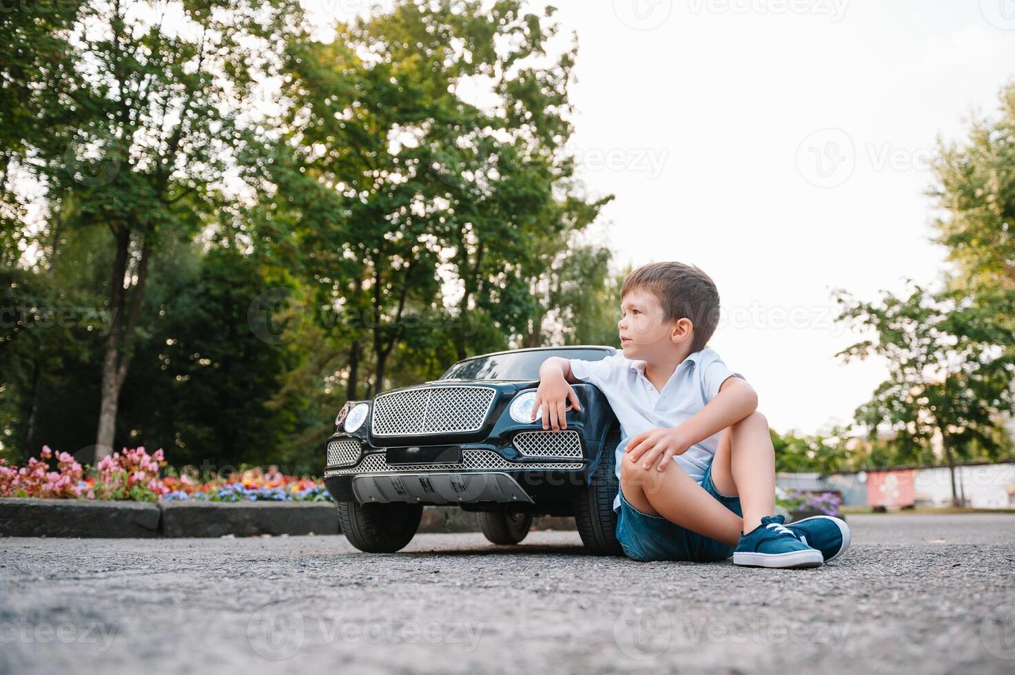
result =
[{"label": "boy's face and ear, turned left in profile", "polygon": [[[624,356],[645,361],[662,359],[671,355],[677,345],[675,332],[684,332],[686,338],[690,337],[688,320],[664,321],[663,315],[663,306],[655,293],[634,289],[623,296],[617,329]],[[683,342],[684,336],[679,337],[679,342]]]}]

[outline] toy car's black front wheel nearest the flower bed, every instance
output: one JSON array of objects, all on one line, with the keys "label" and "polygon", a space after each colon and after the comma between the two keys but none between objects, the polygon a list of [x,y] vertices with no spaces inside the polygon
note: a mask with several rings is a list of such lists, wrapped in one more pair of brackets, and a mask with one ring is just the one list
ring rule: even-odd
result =
[{"label": "toy car's black front wheel nearest the flower bed", "polygon": [[367,553],[394,553],[412,541],[422,504],[338,502],[338,522],[349,543]]}]

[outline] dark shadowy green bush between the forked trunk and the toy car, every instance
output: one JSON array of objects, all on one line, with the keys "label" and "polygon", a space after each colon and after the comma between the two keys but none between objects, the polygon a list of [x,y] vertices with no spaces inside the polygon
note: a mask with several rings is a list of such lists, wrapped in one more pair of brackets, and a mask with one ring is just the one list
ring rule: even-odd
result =
[{"label": "dark shadowy green bush between the forked trunk and the toy car", "polygon": [[269,403],[301,356],[251,330],[251,307],[273,288],[284,290],[231,248],[201,255],[181,246],[163,258],[119,436],[164,448],[177,464],[276,458],[292,411]]}]

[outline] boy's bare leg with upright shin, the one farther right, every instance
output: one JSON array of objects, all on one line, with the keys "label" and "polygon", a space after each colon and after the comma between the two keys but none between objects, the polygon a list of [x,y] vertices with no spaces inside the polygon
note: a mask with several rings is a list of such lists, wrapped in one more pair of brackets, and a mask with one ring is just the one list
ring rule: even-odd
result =
[{"label": "boy's bare leg with upright shin, the one farther right", "polygon": [[774,513],[775,450],[764,415],[754,412],[723,431],[712,463],[712,480],[720,494],[740,496],[744,532]]}]

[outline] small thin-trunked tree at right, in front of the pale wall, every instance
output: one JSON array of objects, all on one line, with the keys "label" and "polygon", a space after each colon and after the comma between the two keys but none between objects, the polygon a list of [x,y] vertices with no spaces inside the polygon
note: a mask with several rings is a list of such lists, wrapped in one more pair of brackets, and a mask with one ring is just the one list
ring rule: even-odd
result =
[{"label": "small thin-trunked tree at right, in front of the pale wall", "polygon": [[974,448],[996,457],[1004,448],[1000,436],[1003,414],[1012,409],[1015,357],[1013,335],[997,318],[1012,307],[1011,293],[932,294],[912,285],[902,296],[884,292],[878,302],[841,292],[837,299],[840,321],[872,333],[837,355],[847,362],[876,355],[888,367],[888,379],[857,409],[857,421],[871,437],[879,425],[895,429],[903,457],[931,447],[937,436],[958,505],[959,458]]}]

